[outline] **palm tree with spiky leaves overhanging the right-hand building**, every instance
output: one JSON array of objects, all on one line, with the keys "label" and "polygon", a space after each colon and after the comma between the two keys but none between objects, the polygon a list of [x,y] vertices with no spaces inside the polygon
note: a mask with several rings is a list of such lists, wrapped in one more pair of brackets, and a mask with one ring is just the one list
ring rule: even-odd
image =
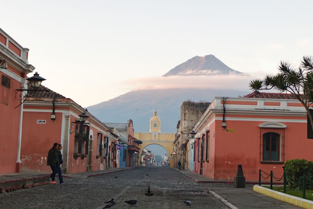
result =
[{"label": "palm tree with spiky leaves overhanging the right-hand building", "polygon": [[305,107],[313,129],[313,118],[309,109],[313,103],[313,56],[304,56],[298,68],[288,61],[280,61],[278,70],[279,73],[275,76],[266,75],[263,80],[250,81],[250,89],[255,92],[270,89],[289,92]]}]

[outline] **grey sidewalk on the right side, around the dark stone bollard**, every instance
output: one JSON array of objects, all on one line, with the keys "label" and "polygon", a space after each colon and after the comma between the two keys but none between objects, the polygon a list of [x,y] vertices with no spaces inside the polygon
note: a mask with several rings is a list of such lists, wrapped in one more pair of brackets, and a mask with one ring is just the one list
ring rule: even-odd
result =
[{"label": "grey sidewalk on the right side, around the dark stone bollard", "polygon": [[[213,180],[209,179],[203,175],[196,174],[189,170],[174,170],[180,172],[183,175],[195,180],[197,183],[231,183],[234,184],[234,181],[231,180]],[[268,182],[266,182],[268,183]],[[257,181],[246,181],[246,184],[258,184]],[[262,183],[263,184],[263,183]],[[252,208],[299,208],[297,206],[288,204],[283,201],[276,200],[269,196],[262,195],[258,192],[253,191],[252,185],[248,185],[246,188],[223,188],[220,185],[214,184],[209,185],[206,190],[215,196],[217,199],[220,199],[227,206],[232,209],[252,209]]]}]

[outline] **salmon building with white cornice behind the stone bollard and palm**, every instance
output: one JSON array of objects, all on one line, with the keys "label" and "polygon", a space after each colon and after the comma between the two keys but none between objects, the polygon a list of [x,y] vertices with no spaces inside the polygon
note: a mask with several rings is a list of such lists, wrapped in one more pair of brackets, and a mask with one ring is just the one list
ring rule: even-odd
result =
[{"label": "salmon building with white cornice behind the stone bollard and palm", "polygon": [[313,160],[307,113],[291,94],[215,97],[193,130],[189,169],[211,179],[233,180],[239,164],[246,180],[259,169],[281,177],[286,160]]}]

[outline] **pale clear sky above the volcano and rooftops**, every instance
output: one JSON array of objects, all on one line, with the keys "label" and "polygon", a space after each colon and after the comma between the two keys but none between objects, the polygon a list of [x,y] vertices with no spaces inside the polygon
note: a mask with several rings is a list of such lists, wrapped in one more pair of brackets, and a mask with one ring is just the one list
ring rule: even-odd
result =
[{"label": "pale clear sky above the volcano and rooftops", "polygon": [[29,48],[44,86],[87,107],[151,83],[183,85],[159,77],[196,55],[245,73],[248,89],[280,60],[297,65],[313,55],[312,8],[313,1],[11,0],[1,3],[0,27]]}]

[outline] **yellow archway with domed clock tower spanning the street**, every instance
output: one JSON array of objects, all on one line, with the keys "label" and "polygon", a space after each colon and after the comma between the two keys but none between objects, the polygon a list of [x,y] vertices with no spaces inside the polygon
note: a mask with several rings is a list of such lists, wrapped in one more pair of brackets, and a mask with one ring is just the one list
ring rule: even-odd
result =
[{"label": "yellow archway with domed clock tower spanning the street", "polygon": [[142,141],[140,152],[150,144],[161,145],[169,154],[170,167],[173,167],[174,160],[170,154],[173,152],[175,133],[161,133],[161,120],[156,111],[150,119],[149,127],[149,132],[134,133],[134,137]]}]

